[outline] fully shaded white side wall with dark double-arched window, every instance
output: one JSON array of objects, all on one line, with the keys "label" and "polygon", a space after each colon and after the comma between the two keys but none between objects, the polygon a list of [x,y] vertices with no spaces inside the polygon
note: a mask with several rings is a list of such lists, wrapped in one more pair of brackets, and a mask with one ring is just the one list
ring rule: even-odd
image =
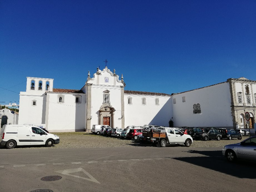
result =
[{"label": "fully shaded white side wall with dark double-arched window", "polygon": [[[185,102],[182,97],[185,96]],[[173,99],[176,104],[173,104]],[[193,114],[193,104],[200,104],[201,113]],[[233,128],[231,96],[228,83],[172,96],[174,126]]]}]

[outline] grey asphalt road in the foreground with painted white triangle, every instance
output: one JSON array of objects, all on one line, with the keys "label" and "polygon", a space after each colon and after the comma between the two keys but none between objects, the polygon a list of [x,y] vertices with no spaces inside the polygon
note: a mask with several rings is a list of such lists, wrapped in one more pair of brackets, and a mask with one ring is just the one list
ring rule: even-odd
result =
[{"label": "grey asphalt road in the foreground with painted white triangle", "polygon": [[[1,191],[255,191],[256,166],[221,148],[1,149]],[[61,176],[42,181],[45,176]]]}]

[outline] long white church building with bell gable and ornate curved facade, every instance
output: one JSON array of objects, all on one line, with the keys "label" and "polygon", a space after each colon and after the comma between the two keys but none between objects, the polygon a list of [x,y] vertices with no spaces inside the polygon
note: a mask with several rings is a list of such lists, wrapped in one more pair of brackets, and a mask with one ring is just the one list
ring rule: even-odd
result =
[{"label": "long white church building with bell gable and ornate curved facade", "polygon": [[[246,78],[182,93],[125,90],[120,77],[97,68],[80,90],[53,88],[53,79],[27,77],[20,92],[19,124],[46,124],[50,132],[83,131],[93,124],[125,128],[155,124],[175,127],[253,128],[256,81]],[[255,92],[253,92],[253,90]],[[250,120],[245,120],[245,112]]]}]

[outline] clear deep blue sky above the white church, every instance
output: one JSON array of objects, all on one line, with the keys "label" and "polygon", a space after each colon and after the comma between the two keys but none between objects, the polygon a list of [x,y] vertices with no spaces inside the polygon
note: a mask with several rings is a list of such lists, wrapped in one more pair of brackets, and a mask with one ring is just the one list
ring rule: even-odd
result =
[{"label": "clear deep blue sky above the white church", "polygon": [[[255,13],[256,1],[0,1],[0,87],[25,91],[28,76],[80,89],[105,59],[126,90],[256,80]],[[19,94],[0,88],[3,101]]]}]

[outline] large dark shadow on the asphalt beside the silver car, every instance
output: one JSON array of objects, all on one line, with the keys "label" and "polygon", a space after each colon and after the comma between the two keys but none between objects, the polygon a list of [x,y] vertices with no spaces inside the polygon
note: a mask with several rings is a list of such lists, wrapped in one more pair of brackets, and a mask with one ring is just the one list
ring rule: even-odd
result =
[{"label": "large dark shadow on the asphalt beside the silver car", "polygon": [[237,178],[256,179],[256,164],[253,162],[237,161],[228,162],[221,151],[187,151],[188,153],[198,153],[206,156],[201,157],[177,157],[172,158],[178,161],[191,163],[200,167],[218,171],[220,173],[235,176]]}]

